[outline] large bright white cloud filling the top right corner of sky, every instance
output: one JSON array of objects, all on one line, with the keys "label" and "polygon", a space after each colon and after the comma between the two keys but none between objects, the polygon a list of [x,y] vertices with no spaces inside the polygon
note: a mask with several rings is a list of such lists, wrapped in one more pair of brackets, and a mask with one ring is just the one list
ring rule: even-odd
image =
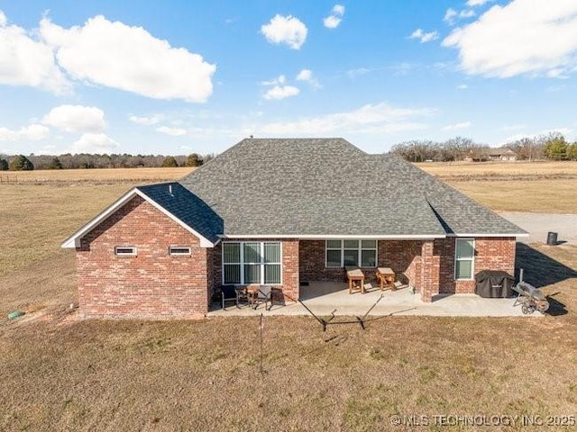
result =
[{"label": "large bright white cloud filling the top right corner of sky", "polygon": [[577,2],[514,0],[455,29],[444,47],[459,49],[467,74],[566,76],[577,67]]}]

